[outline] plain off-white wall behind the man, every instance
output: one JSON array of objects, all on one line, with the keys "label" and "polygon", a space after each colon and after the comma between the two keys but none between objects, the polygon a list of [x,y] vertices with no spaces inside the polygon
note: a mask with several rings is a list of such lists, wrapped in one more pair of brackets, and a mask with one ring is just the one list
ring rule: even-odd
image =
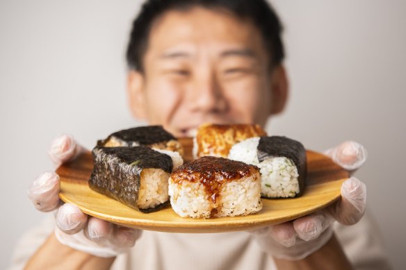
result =
[{"label": "plain off-white wall behind the man", "polygon": [[[405,1],[273,1],[285,26],[291,98],[272,134],[323,151],[357,140],[356,176],[395,269],[405,266]],[[44,217],[26,197],[51,140],[97,139],[135,126],[124,51],[139,1],[0,1],[0,269]]]}]

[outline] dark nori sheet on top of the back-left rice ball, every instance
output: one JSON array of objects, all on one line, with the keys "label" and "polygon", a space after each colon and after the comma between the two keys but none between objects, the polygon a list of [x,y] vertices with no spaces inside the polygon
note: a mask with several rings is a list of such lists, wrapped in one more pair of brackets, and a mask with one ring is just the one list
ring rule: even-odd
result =
[{"label": "dark nori sheet on top of the back-left rice ball", "polygon": [[129,128],[125,130],[117,131],[109,135],[106,140],[100,140],[97,145],[104,146],[111,137],[116,137],[123,140],[129,145],[131,142],[138,143],[140,145],[150,145],[159,142],[168,142],[170,140],[177,140],[172,134],[168,133],[162,126],[139,126],[137,128]]}]

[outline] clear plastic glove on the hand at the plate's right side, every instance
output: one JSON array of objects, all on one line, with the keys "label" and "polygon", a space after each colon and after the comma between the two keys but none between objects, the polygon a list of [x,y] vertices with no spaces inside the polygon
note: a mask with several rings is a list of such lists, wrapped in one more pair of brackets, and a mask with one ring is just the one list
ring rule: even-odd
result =
[{"label": "clear plastic glove on the hand at the plate's right side", "polygon": [[[325,152],[336,164],[350,172],[366,161],[366,150],[357,142],[343,142]],[[329,207],[275,226],[260,228],[254,234],[266,253],[285,260],[302,260],[318,251],[332,237],[332,223],[352,225],[364,215],[366,186],[355,177],[341,185],[341,199]]]}]

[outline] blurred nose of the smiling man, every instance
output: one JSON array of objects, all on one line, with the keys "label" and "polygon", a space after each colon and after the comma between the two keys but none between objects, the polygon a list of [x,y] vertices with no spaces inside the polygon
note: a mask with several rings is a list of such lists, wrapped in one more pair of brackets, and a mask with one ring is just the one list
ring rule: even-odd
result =
[{"label": "blurred nose of the smiling man", "polygon": [[193,112],[222,113],[227,110],[227,99],[215,74],[196,78],[190,93],[188,102]]}]

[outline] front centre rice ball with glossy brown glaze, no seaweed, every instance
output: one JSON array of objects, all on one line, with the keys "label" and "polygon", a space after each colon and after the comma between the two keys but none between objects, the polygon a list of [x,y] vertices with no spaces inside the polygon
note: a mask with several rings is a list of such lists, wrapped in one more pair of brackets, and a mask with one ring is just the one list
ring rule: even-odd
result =
[{"label": "front centre rice ball with glossy brown glaze, no seaweed", "polygon": [[169,195],[180,217],[245,216],[262,209],[261,174],[256,166],[207,156],[172,171]]}]

